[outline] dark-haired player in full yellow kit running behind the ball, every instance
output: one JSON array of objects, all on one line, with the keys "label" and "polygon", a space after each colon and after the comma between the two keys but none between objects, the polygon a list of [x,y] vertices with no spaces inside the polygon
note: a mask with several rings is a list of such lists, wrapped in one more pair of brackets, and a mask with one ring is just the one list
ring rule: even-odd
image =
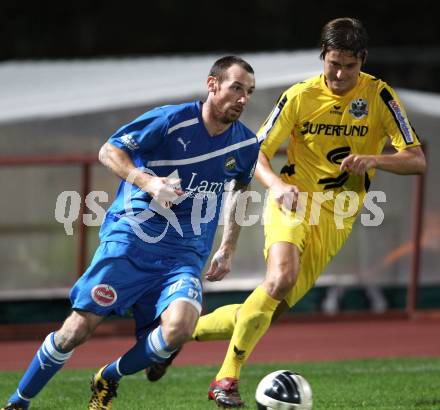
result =
[{"label": "dark-haired player in full yellow kit running behind the ball", "polygon": [[[243,406],[242,365],[271,321],[306,294],[341,249],[376,169],[425,171],[419,139],[395,91],[361,72],[366,43],[360,21],[327,23],[321,36],[323,74],[284,92],[258,132],[262,146],[255,175],[270,190],[266,276],[242,305],[202,316],[193,335],[200,341],[231,339],[208,392],[219,406]],[[277,174],[270,160],[287,140],[288,161]],[[396,153],[381,154],[387,140]]]}]

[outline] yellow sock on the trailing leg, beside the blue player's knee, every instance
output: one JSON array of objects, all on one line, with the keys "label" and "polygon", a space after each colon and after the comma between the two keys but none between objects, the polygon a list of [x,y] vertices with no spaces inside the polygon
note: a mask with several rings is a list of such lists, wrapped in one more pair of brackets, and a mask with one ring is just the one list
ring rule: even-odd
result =
[{"label": "yellow sock on the trailing leg, beside the blue player's knee", "polygon": [[232,336],[235,326],[235,315],[241,305],[226,305],[219,307],[207,315],[203,315],[197,322],[193,333],[193,340],[228,340]]}]

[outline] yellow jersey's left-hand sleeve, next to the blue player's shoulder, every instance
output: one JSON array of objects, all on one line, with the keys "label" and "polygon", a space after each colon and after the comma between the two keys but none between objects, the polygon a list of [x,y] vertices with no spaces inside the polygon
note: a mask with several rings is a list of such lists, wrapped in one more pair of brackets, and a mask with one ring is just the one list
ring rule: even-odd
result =
[{"label": "yellow jersey's left-hand sleeve, next to the blue player's shoulder", "polygon": [[284,92],[269,117],[257,132],[261,151],[272,159],[278,148],[289,138],[294,127],[293,100]]}]

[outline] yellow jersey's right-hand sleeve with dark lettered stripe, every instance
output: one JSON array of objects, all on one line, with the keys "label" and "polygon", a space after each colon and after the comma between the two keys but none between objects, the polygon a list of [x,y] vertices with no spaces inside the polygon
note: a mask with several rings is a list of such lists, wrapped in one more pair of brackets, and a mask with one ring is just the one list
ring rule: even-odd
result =
[{"label": "yellow jersey's right-hand sleeve with dark lettered stripe", "polygon": [[420,145],[419,138],[411,126],[405,108],[396,92],[385,85],[380,91],[382,104],[382,123],[386,136],[391,140],[393,147],[401,151],[406,148]]}]

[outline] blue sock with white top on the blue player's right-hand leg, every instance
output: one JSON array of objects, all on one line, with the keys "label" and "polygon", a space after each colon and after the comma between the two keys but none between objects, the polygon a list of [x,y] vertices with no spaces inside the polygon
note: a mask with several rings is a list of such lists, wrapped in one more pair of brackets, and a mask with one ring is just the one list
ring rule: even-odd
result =
[{"label": "blue sock with white top on the blue player's right-hand leg", "polygon": [[162,336],[161,326],[158,326],[148,335],[140,337],[122,357],[109,364],[102,372],[102,376],[104,379],[118,381],[122,376],[137,373],[153,363],[164,362],[172,353]]}]

